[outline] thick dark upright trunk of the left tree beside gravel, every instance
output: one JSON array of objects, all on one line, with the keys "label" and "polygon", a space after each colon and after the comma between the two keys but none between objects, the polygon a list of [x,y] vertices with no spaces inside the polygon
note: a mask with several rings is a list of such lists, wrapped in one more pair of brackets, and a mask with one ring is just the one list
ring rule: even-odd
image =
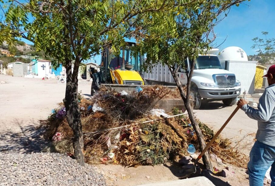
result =
[{"label": "thick dark upright trunk of the left tree beside gravel", "polygon": [[[65,99],[63,100],[66,109],[66,118],[69,126],[72,128],[74,133],[73,145],[74,145],[74,156],[77,162],[84,166],[84,145],[83,145],[83,132],[81,124],[81,113],[78,106],[78,79],[77,73],[78,67],[74,66],[74,74],[72,73],[71,60],[66,60],[66,93]],[[76,74],[76,75],[75,75]]]}]

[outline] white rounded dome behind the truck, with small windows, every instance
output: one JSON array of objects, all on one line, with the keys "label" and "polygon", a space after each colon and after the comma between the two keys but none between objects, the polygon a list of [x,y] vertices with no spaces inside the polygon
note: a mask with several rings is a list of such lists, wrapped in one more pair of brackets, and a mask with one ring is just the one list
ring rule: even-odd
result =
[{"label": "white rounded dome behind the truck, with small windows", "polygon": [[218,58],[220,61],[248,61],[246,52],[237,46],[229,46],[223,49],[222,52],[220,52]]}]

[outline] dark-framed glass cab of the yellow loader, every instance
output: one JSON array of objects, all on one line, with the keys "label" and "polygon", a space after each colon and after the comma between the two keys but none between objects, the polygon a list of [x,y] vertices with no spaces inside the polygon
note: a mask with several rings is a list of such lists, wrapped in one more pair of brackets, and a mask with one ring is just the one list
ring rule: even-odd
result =
[{"label": "dark-framed glass cab of the yellow loader", "polygon": [[115,55],[115,52],[112,51],[111,46],[104,49],[101,55],[100,71],[105,79],[105,83],[112,83],[110,69],[133,70],[142,75],[141,66],[143,64],[144,57],[140,54],[133,54],[131,47],[135,45],[136,43],[134,42],[127,42],[126,47],[124,49],[120,49],[119,55]]}]

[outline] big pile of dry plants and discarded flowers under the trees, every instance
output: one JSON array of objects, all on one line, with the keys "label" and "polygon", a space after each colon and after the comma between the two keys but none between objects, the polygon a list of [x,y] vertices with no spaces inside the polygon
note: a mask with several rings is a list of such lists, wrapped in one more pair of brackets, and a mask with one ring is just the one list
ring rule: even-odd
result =
[{"label": "big pile of dry plants and discarded flowers under the trees", "polygon": [[[131,94],[103,87],[90,100],[79,95],[86,163],[156,165],[187,155],[188,144],[199,149],[187,115],[164,119],[150,113],[154,100],[171,98],[180,99],[179,91],[163,86],[149,86]],[[179,113],[182,111],[174,108],[168,114]],[[199,120],[198,123],[205,141],[209,142],[213,131]],[[45,150],[73,156],[73,132],[65,118],[63,103],[47,120],[40,120],[40,128],[45,128],[44,137],[52,141]],[[248,157],[231,147],[229,139],[218,137],[211,152],[224,162],[246,167]]]}]

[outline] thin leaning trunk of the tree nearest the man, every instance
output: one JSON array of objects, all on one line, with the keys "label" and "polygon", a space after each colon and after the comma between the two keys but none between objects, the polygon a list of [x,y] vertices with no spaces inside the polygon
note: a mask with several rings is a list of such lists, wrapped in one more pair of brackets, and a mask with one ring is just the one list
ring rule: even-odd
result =
[{"label": "thin leaning trunk of the tree nearest the man", "polygon": [[[204,137],[203,137],[203,134],[201,132],[201,129],[200,129],[200,127],[199,127],[199,125],[196,121],[193,110],[191,108],[190,101],[189,101],[190,99],[189,99],[189,97],[186,97],[186,95],[185,95],[185,93],[182,89],[182,84],[180,83],[180,79],[177,76],[177,69],[175,71],[171,68],[169,68],[169,69],[170,69],[170,72],[171,72],[171,74],[172,74],[172,76],[173,76],[173,78],[176,82],[176,85],[177,85],[177,87],[180,91],[180,96],[181,96],[182,100],[184,101],[184,106],[186,107],[189,119],[191,121],[191,124],[192,124],[195,132],[196,132],[196,135],[197,135],[197,138],[198,138],[198,141],[199,141],[199,145],[200,145],[200,150],[202,151],[206,147],[206,144],[205,144]],[[190,89],[187,89],[187,91],[188,90],[190,91]],[[189,95],[189,93],[187,93],[187,95]],[[208,151],[206,151],[205,154],[203,155],[202,161],[203,161],[206,169],[213,171]]]}]

